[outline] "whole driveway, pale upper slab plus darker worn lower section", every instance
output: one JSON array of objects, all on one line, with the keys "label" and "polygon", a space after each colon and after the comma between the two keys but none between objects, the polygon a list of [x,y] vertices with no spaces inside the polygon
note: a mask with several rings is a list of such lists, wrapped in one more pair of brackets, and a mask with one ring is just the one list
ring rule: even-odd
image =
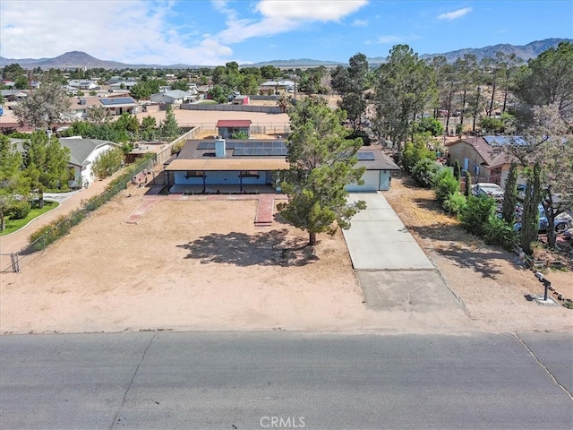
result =
[{"label": "whole driveway, pale upper slab plus darker worn lower section", "polygon": [[462,302],[441,278],[382,193],[351,193],[367,209],[343,230],[348,252],[371,309],[405,313],[410,321],[432,314],[445,325],[469,322]]}]

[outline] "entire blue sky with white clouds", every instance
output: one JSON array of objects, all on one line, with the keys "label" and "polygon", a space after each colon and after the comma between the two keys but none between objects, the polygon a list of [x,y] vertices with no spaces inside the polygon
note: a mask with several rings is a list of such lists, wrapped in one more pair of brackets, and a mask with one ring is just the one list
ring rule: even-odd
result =
[{"label": "entire blue sky with white clouds", "polygon": [[572,0],[2,0],[0,56],[219,65],[573,39]]}]

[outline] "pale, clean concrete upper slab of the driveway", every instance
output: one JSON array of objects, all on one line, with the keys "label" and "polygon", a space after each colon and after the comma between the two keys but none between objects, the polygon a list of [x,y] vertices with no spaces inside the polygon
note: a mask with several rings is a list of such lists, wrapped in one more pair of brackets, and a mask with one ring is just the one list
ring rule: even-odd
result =
[{"label": "pale, clean concrete upper slab of the driveway", "polygon": [[351,193],[348,200],[363,200],[367,206],[352,219],[352,227],[343,230],[355,270],[434,269],[382,193]]}]

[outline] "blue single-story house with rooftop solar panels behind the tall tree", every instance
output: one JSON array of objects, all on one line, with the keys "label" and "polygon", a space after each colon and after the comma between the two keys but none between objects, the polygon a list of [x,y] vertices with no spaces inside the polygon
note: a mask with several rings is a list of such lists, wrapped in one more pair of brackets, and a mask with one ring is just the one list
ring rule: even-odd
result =
[{"label": "blue single-story house with rooftop solar panels behind the tall tree", "polygon": [[[187,141],[167,159],[164,171],[170,193],[278,192],[279,172],[289,168],[286,142],[217,139]],[[366,168],[363,185],[348,185],[350,192],[388,190],[390,173],[399,170],[386,154],[363,147],[358,168]]]}]

